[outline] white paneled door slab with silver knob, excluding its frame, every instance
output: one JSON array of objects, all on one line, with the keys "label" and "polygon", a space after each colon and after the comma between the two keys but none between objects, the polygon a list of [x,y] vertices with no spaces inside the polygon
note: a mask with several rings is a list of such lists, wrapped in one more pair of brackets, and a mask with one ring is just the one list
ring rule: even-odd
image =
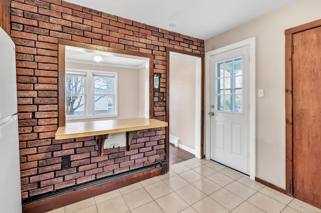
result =
[{"label": "white paneled door slab with silver knob, excluding its frame", "polygon": [[211,159],[246,174],[249,174],[249,49],[244,46],[210,57]]}]

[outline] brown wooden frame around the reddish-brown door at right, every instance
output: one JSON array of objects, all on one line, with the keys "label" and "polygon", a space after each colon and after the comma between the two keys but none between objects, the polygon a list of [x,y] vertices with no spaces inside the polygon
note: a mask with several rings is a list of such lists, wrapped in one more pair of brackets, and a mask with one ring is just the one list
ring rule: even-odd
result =
[{"label": "brown wooden frame around the reddish-brown door at right", "polygon": [[321,26],[321,19],[295,26],[285,34],[285,191],[293,195],[293,99],[292,99],[292,48],[293,34]]}]

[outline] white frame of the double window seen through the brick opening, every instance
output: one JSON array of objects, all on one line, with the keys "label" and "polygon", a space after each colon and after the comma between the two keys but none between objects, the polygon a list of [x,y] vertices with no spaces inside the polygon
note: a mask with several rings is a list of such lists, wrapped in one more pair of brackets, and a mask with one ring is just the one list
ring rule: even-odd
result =
[{"label": "white frame of the double window seen through the brick opening", "polygon": [[[101,71],[91,69],[78,69],[78,68],[66,68],[65,75],[67,74],[79,74],[85,75],[85,106],[83,115],[67,115],[65,112],[66,120],[79,120],[79,119],[90,119],[90,118],[101,118],[101,117],[117,117],[118,116],[118,93],[117,93],[117,81],[118,72],[113,71]],[[95,114],[95,90],[94,90],[94,75],[112,76],[113,80],[113,113],[111,114]],[[65,90],[65,95],[66,90]],[[66,106],[66,102],[65,102]]]}]

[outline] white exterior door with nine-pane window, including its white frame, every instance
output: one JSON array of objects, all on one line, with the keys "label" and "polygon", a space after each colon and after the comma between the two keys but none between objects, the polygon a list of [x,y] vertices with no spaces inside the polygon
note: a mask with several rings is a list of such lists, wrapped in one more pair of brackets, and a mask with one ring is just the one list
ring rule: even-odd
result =
[{"label": "white exterior door with nine-pane window, including its white frame", "polygon": [[206,52],[206,158],[255,179],[255,37]]}]

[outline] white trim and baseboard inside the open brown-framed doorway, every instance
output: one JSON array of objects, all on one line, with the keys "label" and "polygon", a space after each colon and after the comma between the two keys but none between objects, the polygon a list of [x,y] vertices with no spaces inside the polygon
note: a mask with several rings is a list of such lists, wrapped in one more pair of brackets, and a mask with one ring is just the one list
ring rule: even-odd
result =
[{"label": "white trim and baseboard inside the open brown-framed doorway", "polygon": [[176,56],[185,57],[185,58],[192,58],[192,59],[195,59],[195,62],[196,62],[195,64],[196,65],[195,67],[196,69],[195,70],[196,72],[195,74],[195,149],[189,148],[182,144],[179,144],[179,147],[195,154],[195,157],[201,158],[202,58],[193,56],[193,55],[174,52],[174,51],[170,51],[170,55],[171,56],[176,55]]}]

